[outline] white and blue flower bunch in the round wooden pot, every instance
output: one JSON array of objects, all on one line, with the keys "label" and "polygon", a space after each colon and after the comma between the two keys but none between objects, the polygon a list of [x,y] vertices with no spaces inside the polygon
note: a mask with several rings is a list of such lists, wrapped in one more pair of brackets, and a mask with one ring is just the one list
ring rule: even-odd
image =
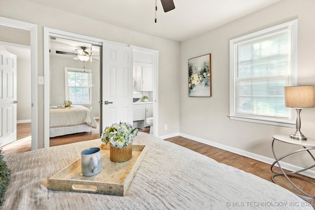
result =
[{"label": "white and blue flower bunch in the round wooden pot", "polygon": [[133,142],[137,134],[138,128],[133,128],[129,122],[120,122],[105,127],[100,138],[105,144],[111,143],[112,147],[122,149]]}]

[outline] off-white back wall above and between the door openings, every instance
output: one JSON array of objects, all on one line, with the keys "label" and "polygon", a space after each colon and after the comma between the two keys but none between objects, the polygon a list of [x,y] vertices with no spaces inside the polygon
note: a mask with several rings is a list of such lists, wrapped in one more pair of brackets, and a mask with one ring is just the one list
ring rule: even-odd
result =
[{"label": "off-white back wall above and between the door openings", "polygon": [[[158,50],[158,135],[179,132],[179,43],[126,30],[27,0],[1,0],[0,16],[37,25],[38,76],[44,75],[43,27]],[[172,104],[172,106],[170,106]],[[38,85],[38,148],[44,147],[44,86]],[[168,130],[164,130],[168,124]]]}]

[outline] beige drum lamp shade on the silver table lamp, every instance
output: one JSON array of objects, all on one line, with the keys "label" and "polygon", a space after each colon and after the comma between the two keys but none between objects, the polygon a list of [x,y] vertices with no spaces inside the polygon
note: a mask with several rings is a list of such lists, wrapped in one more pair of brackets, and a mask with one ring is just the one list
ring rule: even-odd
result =
[{"label": "beige drum lamp shade on the silver table lamp", "polygon": [[314,107],[314,86],[284,87],[285,106],[292,108]]}]

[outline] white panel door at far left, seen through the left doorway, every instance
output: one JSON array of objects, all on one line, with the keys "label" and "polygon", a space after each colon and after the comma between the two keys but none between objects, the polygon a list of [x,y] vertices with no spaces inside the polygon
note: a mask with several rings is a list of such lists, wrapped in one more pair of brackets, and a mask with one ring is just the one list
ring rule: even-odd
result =
[{"label": "white panel door at far left, seen through the left doorway", "polygon": [[0,51],[0,146],[16,140],[16,55]]}]

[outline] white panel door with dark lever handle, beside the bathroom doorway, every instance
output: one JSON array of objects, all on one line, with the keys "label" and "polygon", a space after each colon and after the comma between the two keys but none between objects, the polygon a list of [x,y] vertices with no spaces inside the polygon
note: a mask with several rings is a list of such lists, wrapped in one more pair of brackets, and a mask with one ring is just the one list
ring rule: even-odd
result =
[{"label": "white panel door with dark lever handle, beside the bathroom doorway", "polygon": [[116,122],[133,123],[133,52],[130,47],[103,43],[102,130]]}]

